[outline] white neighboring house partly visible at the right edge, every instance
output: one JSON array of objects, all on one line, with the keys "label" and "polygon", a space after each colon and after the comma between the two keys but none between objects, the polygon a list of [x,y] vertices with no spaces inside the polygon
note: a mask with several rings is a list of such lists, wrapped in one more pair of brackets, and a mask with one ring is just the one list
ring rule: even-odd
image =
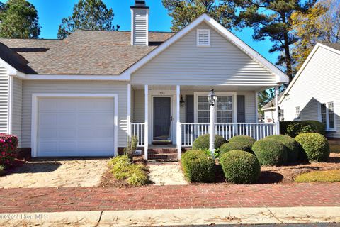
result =
[{"label": "white neighboring house partly visible at the right edge", "polygon": [[340,43],[317,43],[279,104],[285,121],[320,121],[340,138]]}]

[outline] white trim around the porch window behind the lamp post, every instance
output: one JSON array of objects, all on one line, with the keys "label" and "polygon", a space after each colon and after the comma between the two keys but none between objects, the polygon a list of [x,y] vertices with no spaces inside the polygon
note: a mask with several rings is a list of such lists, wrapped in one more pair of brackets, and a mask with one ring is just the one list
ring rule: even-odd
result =
[{"label": "white trim around the porch window behind the lamp post", "polygon": [[[209,92],[193,92],[193,121],[194,123],[198,123],[198,96],[208,96],[208,93]],[[216,95],[217,96],[232,96],[232,123],[237,123],[237,93],[236,92],[216,92]]]}]

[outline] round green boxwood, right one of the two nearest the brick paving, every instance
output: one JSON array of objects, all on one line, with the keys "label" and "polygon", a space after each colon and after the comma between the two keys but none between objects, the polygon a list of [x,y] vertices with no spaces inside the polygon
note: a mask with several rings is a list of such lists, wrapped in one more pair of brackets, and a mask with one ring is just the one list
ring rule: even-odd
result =
[{"label": "round green boxwood, right one of the two nearest the brick paving", "polygon": [[220,158],[225,179],[234,184],[251,184],[259,179],[261,165],[255,155],[244,150],[231,150]]}]

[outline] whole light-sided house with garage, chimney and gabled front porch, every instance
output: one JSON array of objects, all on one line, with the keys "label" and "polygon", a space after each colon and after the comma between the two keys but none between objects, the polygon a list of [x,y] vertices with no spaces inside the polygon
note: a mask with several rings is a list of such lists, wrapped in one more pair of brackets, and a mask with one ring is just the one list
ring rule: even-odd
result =
[{"label": "whole light-sided house with garage, chimney and gabled front porch", "polygon": [[[288,77],[203,14],[179,33],[149,32],[149,7],[131,7],[132,31],[76,31],[64,40],[0,39],[0,131],[33,157],[116,155],[137,135],[190,147],[208,133],[208,92],[217,92],[215,132],[256,139],[256,92]],[[145,153],[147,157],[147,152]]]}]

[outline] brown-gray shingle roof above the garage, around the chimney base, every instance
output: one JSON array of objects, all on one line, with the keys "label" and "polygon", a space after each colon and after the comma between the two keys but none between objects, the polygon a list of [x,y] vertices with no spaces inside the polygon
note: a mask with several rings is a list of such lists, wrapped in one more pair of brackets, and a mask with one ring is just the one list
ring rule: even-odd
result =
[{"label": "brown-gray shingle roof above the garage, around the chimney base", "polygon": [[64,40],[0,39],[0,43],[26,60],[21,69],[29,74],[115,75],[172,35],[174,33],[150,32],[149,46],[131,46],[130,31],[84,30]]}]

